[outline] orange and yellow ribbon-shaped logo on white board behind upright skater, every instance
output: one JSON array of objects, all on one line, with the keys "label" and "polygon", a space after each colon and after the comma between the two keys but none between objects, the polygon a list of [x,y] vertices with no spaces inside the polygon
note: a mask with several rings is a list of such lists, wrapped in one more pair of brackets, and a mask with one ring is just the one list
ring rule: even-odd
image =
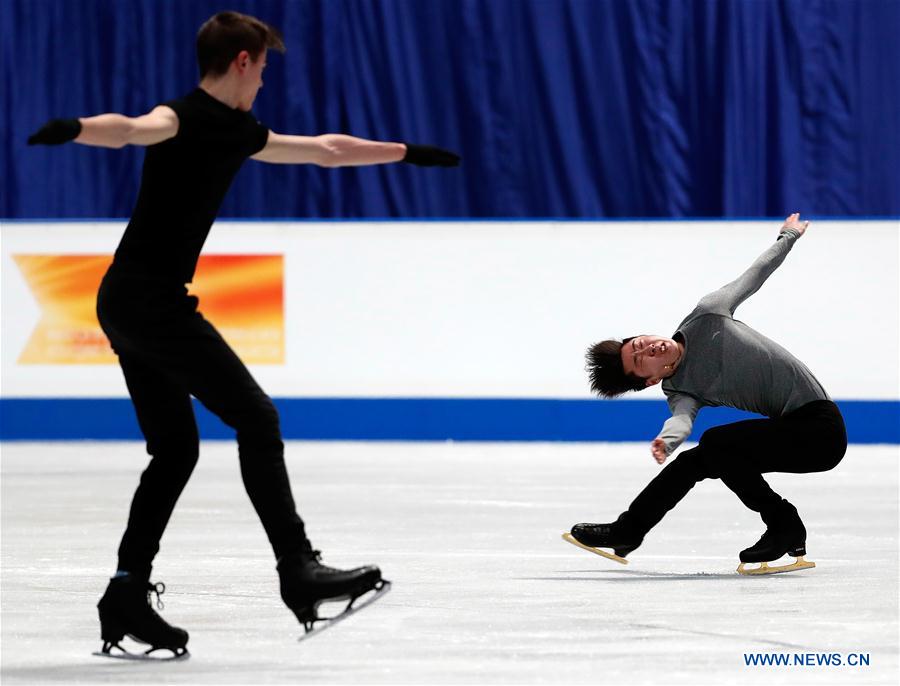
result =
[{"label": "orange and yellow ribbon-shaped logo on white board behind upright skater", "polygon": [[[41,308],[20,364],[115,364],[95,311],[111,255],[14,255]],[[202,255],[190,291],[248,364],[284,364],[282,255]]]}]

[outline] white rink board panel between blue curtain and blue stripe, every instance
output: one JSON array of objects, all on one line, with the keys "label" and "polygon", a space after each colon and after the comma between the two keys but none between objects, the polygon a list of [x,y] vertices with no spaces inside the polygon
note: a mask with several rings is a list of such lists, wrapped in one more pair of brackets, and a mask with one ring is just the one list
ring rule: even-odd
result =
[{"label": "white rink board panel between blue curtain and blue stripe", "polygon": [[[272,396],[586,398],[590,343],[671,333],[779,225],[219,222],[204,252],[285,256],[287,362],[253,368]],[[126,395],[115,365],[16,363],[39,309],[11,258],[112,253],[123,228],[4,223],[3,396]],[[814,221],[738,318],[834,398],[900,398],[898,233],[896,221]]]}]

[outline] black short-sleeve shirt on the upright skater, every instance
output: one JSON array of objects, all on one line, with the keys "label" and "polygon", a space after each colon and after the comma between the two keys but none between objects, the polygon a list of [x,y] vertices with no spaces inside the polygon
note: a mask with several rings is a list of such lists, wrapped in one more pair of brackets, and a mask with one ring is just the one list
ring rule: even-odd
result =
[{"label": "black short-sleeve shirt on the upright skater", "polygon": [[114,264],[183,284],[193,279],[232,179],[266,146],[269,130],[201,88],[163,104],[178,115],[178,134],[147,147],[141,189]]}]

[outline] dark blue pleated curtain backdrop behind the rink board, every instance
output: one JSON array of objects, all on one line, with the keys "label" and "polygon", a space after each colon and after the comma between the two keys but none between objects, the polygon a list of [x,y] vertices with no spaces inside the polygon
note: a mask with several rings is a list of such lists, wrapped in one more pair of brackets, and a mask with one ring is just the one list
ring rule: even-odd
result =
[{"label": "dark blue pleated curtain backdrop behind the rink board", "polygon": [[221,9],[280,27],[275,131],[459,151],[458,170],[248,162],[223,217],[900,215],[898,0],[0,0],[0,216],[126,217],[142,151],[44,120],[196,84]]}]

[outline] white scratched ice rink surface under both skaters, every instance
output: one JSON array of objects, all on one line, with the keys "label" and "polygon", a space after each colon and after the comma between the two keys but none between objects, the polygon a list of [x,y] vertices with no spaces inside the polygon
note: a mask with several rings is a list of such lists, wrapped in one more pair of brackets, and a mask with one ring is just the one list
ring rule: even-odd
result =
[{"label": "white scratched ice rink surface under both skaters", "polygon": [[[163,616],[191,658],[92,657],[95,604],[147,457],[138,443],[2,450],[4,684],[895,684],[897,446],[832,472],[770,475],[817,568],[735,573],[762,523],[699,484],[627,567],[560,539],[607,521],[659,467],[638,444],[289,443],[313,544],[393,590],[302,643],[243,492],[233,443],[205,443],[157,558]],[[747,653],[869,665],[745,666]]]}]

